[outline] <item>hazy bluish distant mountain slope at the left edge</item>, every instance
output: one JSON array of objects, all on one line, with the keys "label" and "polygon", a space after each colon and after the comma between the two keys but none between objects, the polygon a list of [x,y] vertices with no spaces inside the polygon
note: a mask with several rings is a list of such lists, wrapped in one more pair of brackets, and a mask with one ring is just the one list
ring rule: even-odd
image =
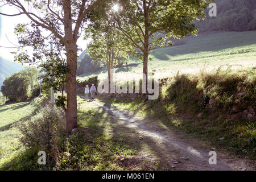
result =
[{"label": "hazy bluish distant mountain slope at the left edge", "polygon": [[13,73],[19,72],[22,69],[24,69],[22,65],[0,57],[0,88],[3,84],[3,80],[5,80],[6,77],[13,75]]}]

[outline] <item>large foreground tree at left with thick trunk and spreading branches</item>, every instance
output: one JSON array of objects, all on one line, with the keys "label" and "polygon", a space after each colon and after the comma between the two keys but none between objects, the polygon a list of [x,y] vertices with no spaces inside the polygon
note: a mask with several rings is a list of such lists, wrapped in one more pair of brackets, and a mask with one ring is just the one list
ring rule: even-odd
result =
[{"label": "large foreground tree at left with thick trunk and spreading branches", "polygon": [[[6,16],[26,15],[34,24],[31,24],[34,30],[32,34],[27,36],[20,44],[31,44],[36,48],[42,45],[42,39],[47,36],[36,36],[39,31],[47,30],[52,38],[64,46],[64,53],[67,60],[69,72],[66,73],[66,88],[67,88],[67,108],[65,109],[65,117],[67,121],[67,132],[70,133],[77,126],[77,100],[76,100],[76,69],[77,69],[77,40],[81,36],[81,32],[86,28],[89,12],[92,11],[102,0],[1,0],[0,6],[13,6],[18,9],[17,14],[5,14]],[[24,29],[22,26],[18,27]],[[35,36],[34,36],[35,35]],[[32,38],[34,39],[30,39]],[[34,40],[36,40],[34,42]],[[26,42],[27,41],[27,42]],[[38,53],[38,52],[37,52]],[[24,53],[19,53],[22,56],[19,60],[40,59],[40,55],[34,54],[32,59],[28,59]],[[26,58],[26,59],[23,59]]]}]

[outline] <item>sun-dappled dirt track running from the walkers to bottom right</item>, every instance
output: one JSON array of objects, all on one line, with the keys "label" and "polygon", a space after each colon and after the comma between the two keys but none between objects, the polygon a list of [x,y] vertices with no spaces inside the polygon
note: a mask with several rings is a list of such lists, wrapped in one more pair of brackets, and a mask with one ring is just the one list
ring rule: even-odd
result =
[{"label": "sun-dappled dirt track running from the walkers to bottom right", "polygon": [[[80,96],[84,98],[84,96]],[[137,148],[137,158],[147,160],[160,170],[255,170],[255,162],[240,159],[221,149],[216,149],[199,139],[189,137],[184,133],[177,133],[159,122],[144,119],[140,114],[124,113],[116,106],[99,97],[94,101],[85,101],[86,107],[104,109],[106,114],[112,115],[113,130],[133,143]],[[93,122],[93,121],[92,121]],[[210,151],[216,152],[216,164]],[[141,160],[140,160],[141,161]],[[133,161],[126,165],[134,164]],[[135,163],[140,165],[139,162]],[[148,163],[147,163],[148,165]]]}]

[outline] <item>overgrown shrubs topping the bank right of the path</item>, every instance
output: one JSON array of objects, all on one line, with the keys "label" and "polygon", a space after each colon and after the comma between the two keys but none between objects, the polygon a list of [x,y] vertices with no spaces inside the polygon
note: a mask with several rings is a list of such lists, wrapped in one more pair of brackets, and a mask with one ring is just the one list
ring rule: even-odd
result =
[{"label": "overgrown shrubs topping the bank right of the path", "polygon": [[[229,111],[234,105],[240,105],[242,111],[248,106],[255,107],[255,85],[255,68],[239,73],[218,68],[200,76],[175,76],[174,81],[162,90],[162,97],[176,104],[193,105],[193,109],[203,109],[213,98],[222,112]],[[236,97],[241,92],[246,93],[243,97]]]}]

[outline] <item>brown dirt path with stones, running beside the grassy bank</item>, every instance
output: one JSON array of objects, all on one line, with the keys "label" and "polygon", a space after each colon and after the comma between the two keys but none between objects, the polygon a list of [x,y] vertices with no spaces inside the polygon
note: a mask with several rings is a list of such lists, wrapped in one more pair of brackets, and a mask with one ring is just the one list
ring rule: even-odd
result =
[{"label": "brown dirt path with stones, running beside the grassy bank", "polygon": [[[84,98],[83,96],[80,96]],[[155,151],[143,155],[149,160],[158,159],[162,169],[170,170],[255,170],[255,162],[239,159],[226,151],[219,151],[205,144],[201,140],[176,134],[167,127],[162,127],[158,122],[143,121],[138,115],[125,115],[121,111],[110,109],[98,101],[93,101],[103,107],[116,119],[115,124],[133,130],[139,139],[142,139]],[[217,164],[209,164],[209,151],[216,151]]]}]

